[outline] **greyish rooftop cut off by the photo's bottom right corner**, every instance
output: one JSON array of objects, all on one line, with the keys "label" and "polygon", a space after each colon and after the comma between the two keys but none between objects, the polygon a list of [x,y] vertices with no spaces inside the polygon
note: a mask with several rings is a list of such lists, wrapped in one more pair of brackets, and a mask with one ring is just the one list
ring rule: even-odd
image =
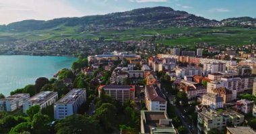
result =
[{"label": "greyish rooftop cut off by the photo's bottom right corner", "polygon": [[226,127],[226,134],[256,134],[251,127]]}]

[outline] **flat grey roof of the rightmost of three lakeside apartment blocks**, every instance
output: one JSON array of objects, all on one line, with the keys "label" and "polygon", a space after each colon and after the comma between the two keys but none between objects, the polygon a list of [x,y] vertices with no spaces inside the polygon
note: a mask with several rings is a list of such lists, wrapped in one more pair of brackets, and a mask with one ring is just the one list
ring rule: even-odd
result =
[{"label": "flat grey roof of the rightmost of three lakeside apartment blocks", "polygon": [[57,104],[73,104],[75,103],[75,100],[77,100],[77,98],[81,96],[84,92],[86,92],[86,90],[82,88],[73,89],[65,96],[63,96],[59,101],[57,101]]}]

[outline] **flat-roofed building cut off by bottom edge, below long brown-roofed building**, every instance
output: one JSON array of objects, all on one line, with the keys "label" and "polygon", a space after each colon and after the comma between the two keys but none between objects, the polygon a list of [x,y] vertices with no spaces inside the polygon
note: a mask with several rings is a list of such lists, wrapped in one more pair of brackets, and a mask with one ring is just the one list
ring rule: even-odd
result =
[{"label": "flat-roofed building cut off by bottom edge, below long brown-roofed building", "polygon": [[141,134],[178,134],[165,111],[141,111]]}]

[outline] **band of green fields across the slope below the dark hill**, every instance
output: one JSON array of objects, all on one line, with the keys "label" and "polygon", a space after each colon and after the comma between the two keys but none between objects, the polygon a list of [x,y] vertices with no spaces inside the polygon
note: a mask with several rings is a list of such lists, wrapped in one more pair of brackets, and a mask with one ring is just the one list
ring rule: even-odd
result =
[{"label": "band of green fields across the slope below the dark hill", "polygon": [[[156,43],[165,45],[192,45],[199,43],[226,44],[243,46],[256,43],[255,29],[243,27],[167,27],[167,28],[133,28],[127,30],[102,30],[97,32],[79,32],[76,27],[57,27],[27,32],[1,32],[0,42],[13,40],[61,40],[63,38],[105,40],[143,40],[160,36]],[[171,35],[171,36],[170,36]]]}]

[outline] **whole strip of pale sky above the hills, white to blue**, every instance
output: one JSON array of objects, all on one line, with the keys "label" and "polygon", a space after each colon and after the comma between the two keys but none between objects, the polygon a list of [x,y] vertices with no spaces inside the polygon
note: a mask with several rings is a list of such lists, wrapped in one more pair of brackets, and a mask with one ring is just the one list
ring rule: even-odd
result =
[{"label": "whole strip of pale sky above the hills, white to blue", "polygon": [[256,17],[255,0],[0,0],[0,24],[25,19],[49,20],[164,6],[207,19]]}]

